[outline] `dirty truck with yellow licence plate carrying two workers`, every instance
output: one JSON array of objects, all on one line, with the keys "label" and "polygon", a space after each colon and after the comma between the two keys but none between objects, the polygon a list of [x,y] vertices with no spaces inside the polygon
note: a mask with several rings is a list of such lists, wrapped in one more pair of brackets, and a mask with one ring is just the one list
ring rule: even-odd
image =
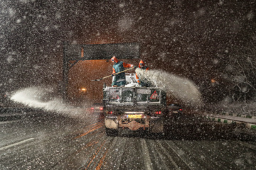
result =
[{"label": "dirty truck with yellow licence plate carrying two workers", "polygon": [[139,86],[135,74],[126,79],[126,86],[103,86],[106,134],[164,134],[169,114],[164,89]]}]

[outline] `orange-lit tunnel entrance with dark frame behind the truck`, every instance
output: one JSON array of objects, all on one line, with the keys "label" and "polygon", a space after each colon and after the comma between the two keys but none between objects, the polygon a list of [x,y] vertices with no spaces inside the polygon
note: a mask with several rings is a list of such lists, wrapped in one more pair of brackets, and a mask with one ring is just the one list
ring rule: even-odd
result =
[{"label": "orange-lit tunnel entrance with dark frame behind the truck", "polygon": [[[102,76],[105,77],[111,74],[112,64],[107,61],[110,60],[113,55],[124,62],[134,59],[139,61],[139,43],[74,45],[64,42],[63,101],[67,102],[74,98],[84,97],[82,95],[85,93],[90,97],[93,95],[92,91],[101,92],[102,86],[98,86],[99,83],[95,86],[91,84],[92,82],[90,80],[99,79]],[[139,62],[134,64],[137,63]],[[108,82],[111,81],[111,79],[105,81]],[[102,81],[100,84],[102,85],[104,82]],[[88,87],[91,91],[88,91]]]}]

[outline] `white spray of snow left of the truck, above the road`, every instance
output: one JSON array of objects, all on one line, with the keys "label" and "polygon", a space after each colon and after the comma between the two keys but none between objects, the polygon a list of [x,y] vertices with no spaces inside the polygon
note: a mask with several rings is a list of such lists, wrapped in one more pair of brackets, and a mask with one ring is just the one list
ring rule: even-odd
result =
[{"label": "white spray of snow left of the truck, above the road", "polygon": [[41,108],[43,111],[52,111],[63,115],[68,115],[73,118],[82,118],[85,115],[85,108],[75,108],[63,103],[61,98],[50,98],[43,101],[45,96],[53,93],[53,88],[47,87],[28,87],[16,91],[11,100],[30,108]]}]

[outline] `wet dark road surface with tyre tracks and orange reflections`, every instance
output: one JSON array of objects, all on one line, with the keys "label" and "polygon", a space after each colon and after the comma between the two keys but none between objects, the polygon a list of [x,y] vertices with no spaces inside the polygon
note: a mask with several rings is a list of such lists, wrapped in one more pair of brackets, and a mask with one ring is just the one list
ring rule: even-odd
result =
[{"label": "wet dark road surface with tyre tracks and orange reflections", "polygon": [[256,169],[255,131],[192,115],[173,121],[165,136],[120,137],[105,135],[100,114],[0,122],[0,169]]}]

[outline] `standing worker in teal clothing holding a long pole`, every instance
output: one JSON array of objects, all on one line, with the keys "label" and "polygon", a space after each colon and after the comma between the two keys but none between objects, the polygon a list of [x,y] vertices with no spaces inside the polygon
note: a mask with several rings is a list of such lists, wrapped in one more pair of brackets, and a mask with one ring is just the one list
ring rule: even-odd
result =
[{"label": "standing worker in teal clothing holding a long pole", "polygon": [[[133,64],[119,62],[117,60],[117,57],[114,57],[114,56],[112,57],[111,62],[114,63],[113,68],[112,68],[112,70],[113,70],[112,77],[114,76],[113,74],[124,71],[124,67],[128,67],[128,68],[134,67]],[[126,84],[125,72],[122,72],[122,73],[116,74],[114,76],[114,80],[111,85],[112,86],[125,86],[125,84]]]}]

